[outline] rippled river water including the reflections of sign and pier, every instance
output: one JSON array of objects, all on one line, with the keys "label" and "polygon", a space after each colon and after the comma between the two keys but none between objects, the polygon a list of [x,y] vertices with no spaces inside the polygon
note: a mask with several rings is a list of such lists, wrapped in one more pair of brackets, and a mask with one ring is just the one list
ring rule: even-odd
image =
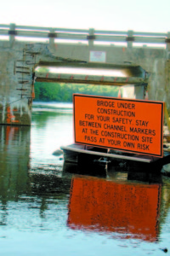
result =
[{"label": "rippled river water including the reflections of sign and pier", "polygon": [[1,255],[169,254],[169,177],[63,171],[53,152],[73,143],[71,104],[37,103],[31,127],[0,126],[0,138]]}]

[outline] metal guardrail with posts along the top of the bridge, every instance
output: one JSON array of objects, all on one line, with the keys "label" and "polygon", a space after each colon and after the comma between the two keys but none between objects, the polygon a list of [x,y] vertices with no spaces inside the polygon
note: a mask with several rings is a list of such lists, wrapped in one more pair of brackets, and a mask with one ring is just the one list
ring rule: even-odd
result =
[{"label": "metal guardrail with posts along the top of the bridge", "polygon": [[49,38],[90,42],[170,44],[170,32],[134,32],[134,31],[103,31],[69,28],[51,28],[41,26],[17,26],[15,24],[0,24],[0,36]]}]

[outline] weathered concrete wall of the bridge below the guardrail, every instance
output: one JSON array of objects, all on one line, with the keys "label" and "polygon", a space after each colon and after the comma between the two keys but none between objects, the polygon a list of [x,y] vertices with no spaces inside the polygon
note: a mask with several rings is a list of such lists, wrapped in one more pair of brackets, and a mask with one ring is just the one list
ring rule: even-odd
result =
[{"label": "weathered concrete wall of the bridge below the guardrail", "polygon": [[[0,41],[0,124],[31,125],[31,96],[35,67],[39,64],[59,66],[60,62],[69,62],[74,67],[78,61],[89,62],[90,50],[104,51],[106,53],[105,63],[120,63],[127,66],[135,64],[143,67],[150,73],[149,99],[166,102],[170,112],[168,47],[156,49],[19,41],[11,44],[8,41]],[[103,63],[104,68],[105,63]]]}]

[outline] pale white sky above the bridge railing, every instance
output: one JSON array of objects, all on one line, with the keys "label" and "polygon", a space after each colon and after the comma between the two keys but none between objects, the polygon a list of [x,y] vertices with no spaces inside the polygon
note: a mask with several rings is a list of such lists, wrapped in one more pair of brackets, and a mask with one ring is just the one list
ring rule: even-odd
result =
[{"label": "pale white sky above the bridge railing", "polygon": [[0,24],[170,32],[170,0],[3,0]]}]

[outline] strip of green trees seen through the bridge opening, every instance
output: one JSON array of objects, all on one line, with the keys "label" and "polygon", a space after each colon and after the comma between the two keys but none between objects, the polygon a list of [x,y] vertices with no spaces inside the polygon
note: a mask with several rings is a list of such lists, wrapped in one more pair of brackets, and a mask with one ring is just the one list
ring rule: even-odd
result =
[{"label": "strip of green trees seen through the bridge opening", "polygon": [[35,83],[35,101],[37,102],[72,102],[73,93],[95,96],[118,95],[118,87],[109,85]]}]

